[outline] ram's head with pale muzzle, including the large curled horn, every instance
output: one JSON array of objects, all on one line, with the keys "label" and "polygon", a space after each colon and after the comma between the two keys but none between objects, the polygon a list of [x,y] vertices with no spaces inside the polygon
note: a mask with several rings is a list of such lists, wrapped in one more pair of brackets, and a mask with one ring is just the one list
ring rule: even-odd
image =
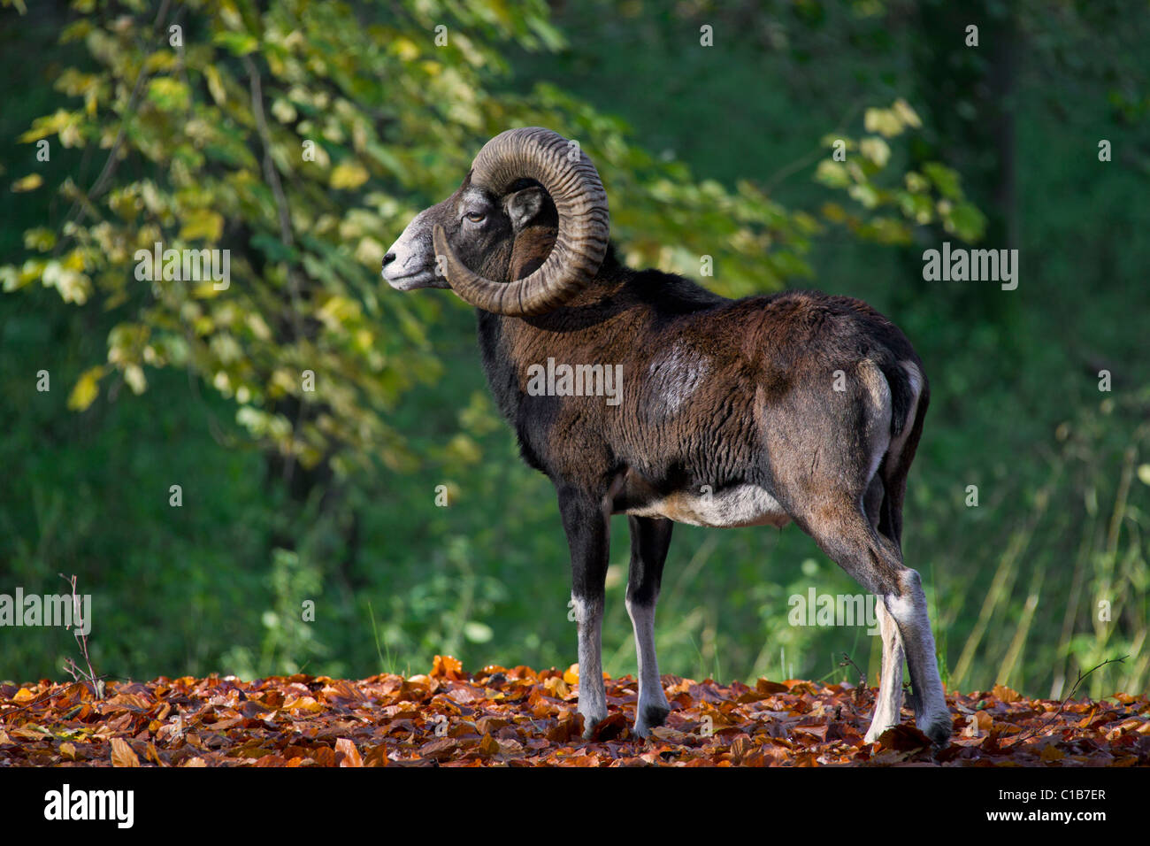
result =
[{"label": "ram's head with pale muzzle, including the large curled horn", "polygon": [[451,197],[383,257],[392,288],[451,288],[476,308],[542,314],[582,290],[607,251],[607,195],[577,144],[550,129],[488,142]]}]

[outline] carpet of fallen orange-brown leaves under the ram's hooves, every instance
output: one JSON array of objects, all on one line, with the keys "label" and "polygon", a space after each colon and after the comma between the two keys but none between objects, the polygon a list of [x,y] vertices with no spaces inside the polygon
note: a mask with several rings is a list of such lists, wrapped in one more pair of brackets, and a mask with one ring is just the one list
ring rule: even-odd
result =
[{"label": "carpet of fallen orange-brown leaves under the ram's hooves", "polygon": [[[951,745],[903,724],[865,744],[874,691],[760,679],[754,687],[664,677],[672,714],[630,732],[638,683],[607,680],[610,716],[581,738],[578,672],[436,656],[430,674],[362,681],[305,674],[0,685],[0,767],[729,767],[1150,764],[1150,701],[1061,706],[1006,687],[949,694]],[[1061,709],[1061,710],[1059,710]]]}]

